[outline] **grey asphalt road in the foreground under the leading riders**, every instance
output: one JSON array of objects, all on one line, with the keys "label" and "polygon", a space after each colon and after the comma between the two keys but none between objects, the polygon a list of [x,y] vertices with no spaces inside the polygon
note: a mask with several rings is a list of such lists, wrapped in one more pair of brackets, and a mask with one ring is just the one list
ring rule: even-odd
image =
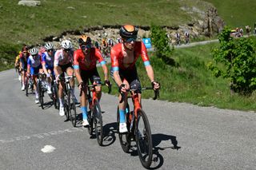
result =
[{"label": "grey asphalt road in the foreground under the leading riders", "polygon": [[[14,69],[1,72],[0,82],[0,169],[143,169],[136,152],[122,152],[119,144],[117,97],[102,95],[100,147],[81,124],[72,128],[53,106],[42,110],[26,97]],[[151,168],[256,169],[255,113],[153,100],[142,105],[153,136]],[[51,152],[42,149],[48,147]]]}]

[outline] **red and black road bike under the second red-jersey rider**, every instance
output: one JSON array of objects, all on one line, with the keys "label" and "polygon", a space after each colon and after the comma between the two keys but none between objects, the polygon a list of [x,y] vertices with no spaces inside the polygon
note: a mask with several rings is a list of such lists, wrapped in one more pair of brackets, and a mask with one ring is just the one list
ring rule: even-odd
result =
[{"label": "red and black road bike under the second red-jersey rider", "polygon": [[[89,112],[87,113],[87,119],[89,122],[88,132],[90,135],[93,134],[97,138],[98,144],[102,146],[103,141],[103,121],[102,121],[102,109],[98,102],[98,97],[96,95],[95,87],[102,86],[101,84],[97,85],[82,85],[82,89],[87,88],[86,98],[89,102]],[[109,91],[111,92],[111,85],[108,85]],[[82,90],[80,91],[80,96],[82,95]]]}]

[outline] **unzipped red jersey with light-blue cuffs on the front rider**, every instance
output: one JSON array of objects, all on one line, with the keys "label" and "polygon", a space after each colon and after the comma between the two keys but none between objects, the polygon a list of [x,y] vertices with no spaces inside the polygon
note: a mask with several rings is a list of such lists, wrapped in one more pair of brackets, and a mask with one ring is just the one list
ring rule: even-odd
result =
[{"label": "unzipped red jersey with light-blue cuffs on the front rider", "polygon": [[138,60],[138,57],[142,57],[144,65],[150,65],[150,60],[146,52],[146,46],[143,42],[135,42],[134,44],[134,60],[124,62],[124,47],[122,43],[114,45],[111,49],[111,66],[113,71],[118,71],[119,68],[122,70],[134,69],[134,65]]}]

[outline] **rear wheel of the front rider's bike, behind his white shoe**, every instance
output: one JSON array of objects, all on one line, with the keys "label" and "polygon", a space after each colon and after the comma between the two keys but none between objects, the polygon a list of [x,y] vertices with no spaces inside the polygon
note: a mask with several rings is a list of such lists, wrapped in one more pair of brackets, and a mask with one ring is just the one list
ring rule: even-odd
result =
[{"label": "rear wheel of the front rider's bike, behind his white shoe", "polygon": [[[128,120],[128,119],[126,119],[126,120]],[[130,132],[129,132],[129,128],[128,128],[128,132],[120,133],[119,132],[119,123],[120,123],[120,118],[119,118],[119,108],[118,108],[118,111],[117,111],[117,131],[118,131],[118,137],[119,137],[119,141],[120,141],[120,144],[121,144],[123,152],[128,153],[129,150],[130,150]]]}]

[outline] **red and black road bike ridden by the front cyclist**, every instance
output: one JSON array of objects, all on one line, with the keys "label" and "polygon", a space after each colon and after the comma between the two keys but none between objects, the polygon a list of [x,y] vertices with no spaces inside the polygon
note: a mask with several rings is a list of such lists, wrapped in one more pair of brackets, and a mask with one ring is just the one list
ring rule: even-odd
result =
[{"label": "red and black road bike ridden by the front cyclist", "polygon": [[[153,144],[152,136],[150,130],[150,123],[146,117],[146,113],[142,110],[142,105],[138,99],[138,91],[153,89],[152,87],[146,87],[141,89],[128,89],[127,92],[130,92],[130,96],[134,102],[134,110],[130,112],[129,104],[127,101],[126,105],[126,125],[128,132],[120,133],[119,132],[119,108],[117,111],[117,122],[118,122],[118,137],[122,150],[124,152],[129,152],[131,141],[136,142],[137,151],[139,159],[142,163],[142,166],[145,168],[150,168],[153,156]],[[121,93],[122,99],[120,103],[124,100],[124,93]],[[159,91],[154,90],[154,100],[159,96]]]}]

